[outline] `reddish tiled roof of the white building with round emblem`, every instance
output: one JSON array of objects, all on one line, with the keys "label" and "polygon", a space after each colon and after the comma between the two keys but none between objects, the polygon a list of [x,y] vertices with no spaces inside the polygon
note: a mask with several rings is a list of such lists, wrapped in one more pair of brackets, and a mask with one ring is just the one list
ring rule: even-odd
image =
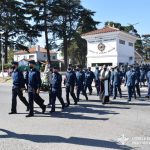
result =
[{"label": "reddish tiled roof of the white building with round emblem", "polygon": [[98,30],[94,30],[94,31],[91,31],[91,32],[87,32],[87,33],[83,34],[82,36],[95,35],[95,34],[108,33],[108,32],[117,32],[117,31],[119,31],[119,29],[106,26],[106,27],[104,27],[102,29],[98,29]]}]

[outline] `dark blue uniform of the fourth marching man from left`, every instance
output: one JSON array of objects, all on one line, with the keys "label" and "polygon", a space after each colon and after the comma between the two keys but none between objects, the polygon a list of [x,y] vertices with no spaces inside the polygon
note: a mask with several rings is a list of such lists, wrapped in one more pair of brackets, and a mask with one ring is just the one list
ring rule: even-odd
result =
[{"label": "dark blue uniform of the fourth marching man from left", "polygon": [[67,105],[70,105],[70,100],[69,100],[69,93],[72,96],[75,104],[77,104],[77,98],[74,94],[74,86],[76,83],[76,74],[72,70],[68,70],[66,73],[66,78],[64,80],[64,83],[66,85],[66,99],[67,99]]}]

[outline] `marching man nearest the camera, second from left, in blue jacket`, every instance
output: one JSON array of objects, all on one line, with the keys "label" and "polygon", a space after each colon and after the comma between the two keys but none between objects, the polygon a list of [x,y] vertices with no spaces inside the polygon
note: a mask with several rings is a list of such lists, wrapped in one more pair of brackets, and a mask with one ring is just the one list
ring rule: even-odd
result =
[{"label": "marching man nearest the camera, second from left, in blue jacket", "polygon": [[29,96],[29,107],[30,111],[26,117],[34,116],[34,101],[42,109],[42,113],[45,113],[46,105],[44,105],[44,100],[39,96],[41,87],[41,77],[40,72],[35,68],[36,63],[34,60],[29,61],[29,77],[28,77],[28,96]]}]

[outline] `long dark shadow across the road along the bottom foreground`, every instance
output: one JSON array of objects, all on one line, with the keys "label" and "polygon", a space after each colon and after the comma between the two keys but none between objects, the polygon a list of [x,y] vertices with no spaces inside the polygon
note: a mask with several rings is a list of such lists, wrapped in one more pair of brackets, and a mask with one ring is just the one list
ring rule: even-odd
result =
[{"label": "long dark shadow across the road along the bottom foreground", "polygon": [[13,139],[23,139],[35,143],[65,143],[65,144],[75,144],[82,146],[91,146],[99,148],[113,148],[117,150],[132,150],[132,147],[126,145],[120,145],[115,141],[106,141],[99,139],[89,139],[89,138],[80,138],[80,137],[70,137],[64,138],[61,136],[53,135],[33,135],[33,134],[17,134],[12,131],[5,129],[0,129],[5,135],[0,135],[0,138],[13,138]]}]

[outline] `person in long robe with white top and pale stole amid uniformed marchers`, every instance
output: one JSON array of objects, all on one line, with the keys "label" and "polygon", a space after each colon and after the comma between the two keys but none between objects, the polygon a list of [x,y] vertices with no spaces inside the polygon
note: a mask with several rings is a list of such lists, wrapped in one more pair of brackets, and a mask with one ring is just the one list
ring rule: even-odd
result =
[{"label": "person in long robe with white top and pale stole amid uniformed marchers", "polygon": [[100,100],[102,104],[109,103],[110,96],[110,71],[104,65],[100,74]]}]

